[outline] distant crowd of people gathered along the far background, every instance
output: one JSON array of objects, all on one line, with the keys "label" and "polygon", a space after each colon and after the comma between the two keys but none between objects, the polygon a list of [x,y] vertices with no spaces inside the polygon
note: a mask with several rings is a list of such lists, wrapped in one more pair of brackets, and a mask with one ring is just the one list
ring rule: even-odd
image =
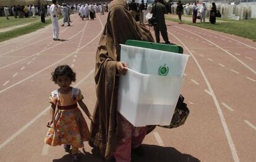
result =
[{"label": "distant crowd of people gathered along the far background", "polygon": [[[156,1],[154,2],[156,3]],[[63,15],[62,9],[64,8],[64,13],[70,14],[79,14],[82,20],[85,19],[95,19],[95,14],[98,12],[103,15],[105,12],[108,12],[109,0],[59,0],[58,1],[58,16]],[[189,11],[190,3],[182,4],[181,1],[173,2],[169,0],[168,2],[163,1],[164,6],[166,7],[166,14],[177,14],[179,23],[182,23],[181,17],[182,14],[192,14],[192,22],[196,23],[197,19],[200,19],[200,23],[205,22],[205,17],[207,15],[207,7],[205,2],[202,2],[200,7],[197,6],[197,2],[194,2],[192,11]],[[176,4],[175,11],[173,11],[172,6]],[[65,6],[64,6],[65,5]],[[153,4],[144,3],[142,0],[139,4],[135,0],[131,0],[128,3],[129,11],[134,17],[134,19],[140,23],[143,23],[145,15],[143,11],[149,11],[150,7]],[[149,9],[148,9],[149,8]],[[208,12],[210,13],[210,23],[216,22],[216,6],[213,2],[212,8]],[[45,17],[49,15],[49,5],[28,5],[28,6],[0,6],[0,17],[6,16],[6,19],[9,19],[9,16],[14,16],[15,18],[24,18],[24,17],[33,17],[36,15],[41,16],[41,22],[45,22]],[[67,20],[66,20],[67,22]],[[69,22],[67,22],[69,24]]]}]

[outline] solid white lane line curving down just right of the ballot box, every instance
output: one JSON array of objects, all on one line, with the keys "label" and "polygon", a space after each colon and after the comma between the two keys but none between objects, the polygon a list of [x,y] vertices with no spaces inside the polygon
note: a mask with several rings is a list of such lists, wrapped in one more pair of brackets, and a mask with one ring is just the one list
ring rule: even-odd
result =
[{"label": "solid white lane line curving down just right of the ballot box", "polygon": [[[173,33],[169,32],[169,31],[167,31],[167,32],[168,32],[169,34],[173,35]],[[175,35],[173,35],[173,36],[174,36],[177,40],[179,40],[179,38],[177,38],[177,36],[175,36]],[[195,58],[194,54],[190,52],[189,48],[187,48],[187,46],[186,46],[184,43],[182,43],[181,40],[179,40],[179,41],[180,41],[181,44],[184,46],[184,48],[186,48],[187,51],[189,51],[190,56],[192,56],[192,58],[193,58],[194,61],[195,61],[195,64],[197,64],[198,69],[200,70],[200,72],[201,72],[201,74],[202,74],[202,76],[203,76],[203,79],[205,80],[205,83],[207,84],[207,87],[208,87],[208,89],[209,89],[210,92],[211,92],[211,96],[212,96],[213,101],[214,101],[214,103],[215,103],[217,112],[218,112],[218,114],[219,114],[219,116],[220,116],[221,124],[222,124],[222,126],[223,126],[224,133],[225,133],[226,138],[227,138],[227,140],[228,140],[229,148],[230,148],[230,150],[231,150],[233,159],[234,159],[235,162],[239,162],[240,160],[239,160],[239,157],[238,157],[238,155],[237,155],[237,151],[236,151],[236,147],[235,147],[235,145],[234,145],[233,139],[232,139],[231,134],[230,134],[230,132],[229,132],[228,125],[226,124],[226,119],[225,119],[225,117],[224,117],[224,115],[223,115],[223,112],[222,112],[222,110],[221,110],[221,108],[220,108],[220,103],[218,102],[218,100],[217,100],[217,98],[216,98],[216,95],[215,95],[215,93],[213,92],[213,89],[211,88],[210,82],[208,81],[208,79],[207,79],[207,77],[206,77],[206,75],[205,75],[205,72],[203,72],[203,69],[202,69],[202,67],[200,66],[200,64],[199,64],[199,62],[197,61],[197,59]]]}]

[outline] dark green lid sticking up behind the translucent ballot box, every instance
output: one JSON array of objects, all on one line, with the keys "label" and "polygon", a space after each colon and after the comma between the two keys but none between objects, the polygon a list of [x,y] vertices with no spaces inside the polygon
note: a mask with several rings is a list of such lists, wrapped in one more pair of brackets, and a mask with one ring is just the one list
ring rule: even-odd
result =
[{"label": "dark green lid sticking up behind the translucent ballot box", "polygon": [[137,46],[142,48],[157,49],[160,51],[167,51],[172,53],[183,53],[183,48],[177,45],[166,45],[161,43],[153,43],[149,41],[127,40],[126,45]]}]

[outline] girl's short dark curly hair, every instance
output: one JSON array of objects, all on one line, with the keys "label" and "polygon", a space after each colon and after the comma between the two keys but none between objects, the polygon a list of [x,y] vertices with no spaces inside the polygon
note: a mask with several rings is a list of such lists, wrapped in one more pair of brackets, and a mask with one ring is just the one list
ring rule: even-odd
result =
[{"label": "girl's short dark curly hair", "polygon": [[58,76],[62,75],[66,75],[72,82],[75,82],[75,72],[67,65],[56,67],[54,72],[51,72],[51,80],[56,83]]}]

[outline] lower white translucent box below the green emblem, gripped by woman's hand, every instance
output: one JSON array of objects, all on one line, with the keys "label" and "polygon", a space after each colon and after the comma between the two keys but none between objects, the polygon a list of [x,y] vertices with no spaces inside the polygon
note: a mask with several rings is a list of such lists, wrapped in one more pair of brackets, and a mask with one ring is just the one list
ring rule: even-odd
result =
[{"label": "lower white translucent box below the green emblem, gripped by woman's hand", "polygon": [[129,69],[119,76],[117,110],[133,126],[171,122],[184,77],[148,75]]}]

